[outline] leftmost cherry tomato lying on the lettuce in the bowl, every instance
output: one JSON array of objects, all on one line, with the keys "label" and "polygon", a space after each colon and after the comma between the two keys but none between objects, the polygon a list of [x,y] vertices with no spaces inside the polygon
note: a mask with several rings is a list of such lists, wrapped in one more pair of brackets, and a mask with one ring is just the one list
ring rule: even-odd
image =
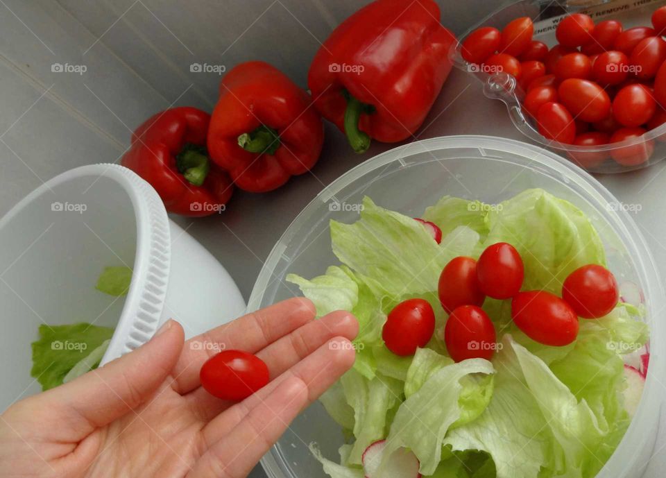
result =
[{"label": "leftmost cherry tomato lying on the lettuce in the bowl", "polygon": [[425,347],[435,331],[435,312],[430,302],[408,299],[388,313],[382,329],[386,348],[395,355],[414,355],[417,347]]}]

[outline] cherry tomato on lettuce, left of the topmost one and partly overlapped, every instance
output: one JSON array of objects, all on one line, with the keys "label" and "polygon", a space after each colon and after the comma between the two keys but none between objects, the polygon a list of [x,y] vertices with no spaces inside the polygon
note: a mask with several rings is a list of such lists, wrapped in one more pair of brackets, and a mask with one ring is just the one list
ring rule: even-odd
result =
[{"label": "cherry tomato on lettuce, left of the topmost one and partly overlapped", "polygon": [[447,314],[461,305],[483,305],[486,296],[477,282],[477,262],[465,256],[451,259],[439,276],[437,293]]}]

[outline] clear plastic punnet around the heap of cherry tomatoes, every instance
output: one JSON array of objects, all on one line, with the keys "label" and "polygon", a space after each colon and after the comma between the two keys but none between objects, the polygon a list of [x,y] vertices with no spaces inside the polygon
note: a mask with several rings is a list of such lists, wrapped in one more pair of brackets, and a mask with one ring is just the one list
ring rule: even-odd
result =
[{"label": "clear plastic punnet around the heap of cherry tomatoes", "polygon": [[[493,12],[461,35],[459,43],[454,44],[452,49],[453,64],[478,78],[484,84],[484,94],[488,98],[503,101],[509,110],[509,117],[514,126],[536,144],[542,144],[556,151],[591,173],[622,173],[642,169],[660,162],[666,157],[666,123],[654,130],[647,131],[640,137],[604,146],[574,146],[554,142],[540,135],[533,118],[522,110],[524,92],[513,76],[502,72],[486,73],[483,68],[468,64],[461,57],[460,49],[461,42],[477,28],[493,26],[502,30],[506,24],[518,17],[530,17],[534,22],[533,39],[544,42],[550,48],[557,43],[556,25],[570,13],[587,13],[595,23],[606,19],[616,19],[622,22],[624,28],[627,29],[634,26],[651,26],[652,12],[663,5],[666,5],[666,0],[612,0],[606,2],[578,0],[562,3],[547,0],[521,0]],[[603,157],[605,159],[602,159],[599,164],[594,164],[597,162],[595,156],[599,157],[599,155],[601,155],[601,159]],[[622,155],[624,164],[613,160],[613,155]]]}]

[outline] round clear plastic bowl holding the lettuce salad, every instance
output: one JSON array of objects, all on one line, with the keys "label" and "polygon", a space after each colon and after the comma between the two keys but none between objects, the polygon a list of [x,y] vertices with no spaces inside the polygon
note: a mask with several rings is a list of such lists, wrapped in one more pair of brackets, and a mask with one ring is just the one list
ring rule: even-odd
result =
[{"label": "round clear plastic bowl holding the lettuce salad", "polygon": [[[486,136],[453,136],[400,146],[368,160],[332,182],[291,223],[259,273],[248,309],[300,295],[284,281],[287,273],[307,278],[339,263],[331,250],[330,220],[351,223],[357,205],[370,196],[378,205],[420,216],[445,194],[488,203],[541,187],[569,200],[595,224],[608,253],[610,269],[626,296],[640,300],[651,326],[651,361],[640,406],[620,447],[599,477],[638,477],[649,459],[663,402],[666,332],[654,320],[666,305],[658,271],[633,219],[615,198],[581,169],[553,153],[521,142]],[[639,290],[636,290],[638,287]],[[338,459],[343,443],[339,425],[314,403],[291,425],[262,465],[270,478],[324,478],[307,445]]]}]

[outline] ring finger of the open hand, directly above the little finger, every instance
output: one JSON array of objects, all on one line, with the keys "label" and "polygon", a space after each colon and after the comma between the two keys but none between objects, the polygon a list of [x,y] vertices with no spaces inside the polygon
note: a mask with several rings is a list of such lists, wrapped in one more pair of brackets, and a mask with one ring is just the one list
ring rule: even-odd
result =
[{"label": "ring finger of the open hand, directly above the little finger", "polygon": [[228,434],[230,429],[239,425],[253,409],[269,400],[278,386],[286,380],[296,378],[306,384],[307,400],[305,406],[309,405],[351,368],[354,359],[354,348],[348,339],[336,337],[327,341],[263,389],[246,398],[243,402],[223,411],[209,422],[203,429],[205,443],[212,445],[220,441]]}]

